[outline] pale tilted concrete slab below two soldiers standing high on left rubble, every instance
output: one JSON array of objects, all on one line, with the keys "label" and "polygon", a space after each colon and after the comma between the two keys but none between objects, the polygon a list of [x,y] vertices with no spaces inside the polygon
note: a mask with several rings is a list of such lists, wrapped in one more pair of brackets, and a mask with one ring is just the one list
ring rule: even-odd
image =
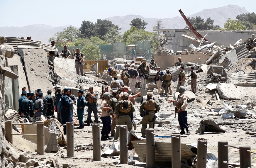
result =
[{"label": "pale tilted concrete slab below two soldiers standing high on left rubble", "polygon": [[55,57],[54,72],[60,77],[60,79],[58,79],[59,85],[70,87],[76,86],[77,73],[74,59]]}]

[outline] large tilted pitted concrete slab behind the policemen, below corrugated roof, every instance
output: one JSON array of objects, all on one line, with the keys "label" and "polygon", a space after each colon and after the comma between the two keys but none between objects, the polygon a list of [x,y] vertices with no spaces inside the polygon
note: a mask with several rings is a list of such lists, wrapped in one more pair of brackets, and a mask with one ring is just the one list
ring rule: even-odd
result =
[{"label": "large tilted pitted concrete slab behind the policemen, below corrugated roof", "polygon": [[23,49],[23,59],[25,64],[25,72],[28,78],[30,91],[42,89],[45,93],[48,90],[53,91],[53,86],[49,75],[49,65],[47,54],[44,49]]}]

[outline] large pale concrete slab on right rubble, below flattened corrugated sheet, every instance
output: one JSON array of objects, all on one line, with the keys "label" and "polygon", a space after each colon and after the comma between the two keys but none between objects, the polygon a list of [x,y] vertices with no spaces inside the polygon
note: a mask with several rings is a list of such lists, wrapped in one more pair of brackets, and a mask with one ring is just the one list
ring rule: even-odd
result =
[{"label": "large pale concrete slab on right rubble, below flattened corrugated sheet", "polygon": [[229,100],[240,100],[240,92],[237,90],[234,84],[227,84],[227,83],[219,83],[216,86],[218,93],[220,94],[222,99],[229,99]]}]

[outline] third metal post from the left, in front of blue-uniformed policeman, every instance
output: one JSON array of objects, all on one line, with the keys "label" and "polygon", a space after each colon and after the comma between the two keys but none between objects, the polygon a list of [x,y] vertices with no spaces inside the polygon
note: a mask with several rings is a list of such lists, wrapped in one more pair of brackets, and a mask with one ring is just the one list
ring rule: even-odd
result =
[{"label": "third metal post from the left, in front of blue-uniformed policeman", "polygon": [[67,156],[75,157],[74,147],[74,123],[67,122]]}]

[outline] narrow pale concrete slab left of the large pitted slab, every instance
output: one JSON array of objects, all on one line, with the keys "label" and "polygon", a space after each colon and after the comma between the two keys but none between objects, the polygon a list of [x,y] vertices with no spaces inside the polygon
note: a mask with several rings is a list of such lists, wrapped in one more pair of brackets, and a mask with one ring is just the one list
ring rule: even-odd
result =
[{"label": "narrow pale concrete slab left of the large pitted slab", "polygon": [[28,89],[26,75],[23,69],[23,65],[21,63],[21,56],[14,54],[12,58],[8,58],[8,65],[18,65],[19,93],[22,92],[23,87],[26,87]]}]

